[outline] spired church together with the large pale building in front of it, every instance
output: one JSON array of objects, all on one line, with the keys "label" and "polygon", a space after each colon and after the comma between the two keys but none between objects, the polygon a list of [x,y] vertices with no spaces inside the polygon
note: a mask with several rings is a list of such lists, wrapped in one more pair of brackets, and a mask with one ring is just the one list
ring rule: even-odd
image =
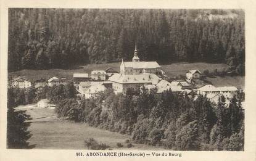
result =
[{"label": "spired church together with the large pale building in front of it", "polygon": [[157,62],[141,62],[135,45],[134,57],[131,62],[120,65],[120,73],[115,73],[109,78],[112,82],[114,93],[125,94],[127,89],[139,89],[143,85],[157,85],[162,78],[162,67]]}]

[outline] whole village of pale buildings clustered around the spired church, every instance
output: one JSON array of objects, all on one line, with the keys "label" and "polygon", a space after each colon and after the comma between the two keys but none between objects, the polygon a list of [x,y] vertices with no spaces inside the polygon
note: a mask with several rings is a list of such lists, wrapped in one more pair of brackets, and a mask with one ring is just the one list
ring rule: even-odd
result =
[{"label": "whole village of pale buildings clustered around the spired church", "polygon": [[[211,83],[205,83],[204,75],[197,69],[191,69],[184,73],[186,79],[168,81],[167,75],[162,67],[155,61],[146,62],[140,61],[138,50],[135,45],[134,56],[132,61],[125,62],[122,60],[120,64],[120,71],[113,68],[105,70],[93,70],[89,73],[73,73],[73,79],[58,78],[52,76],[51,78],[41,78],[36,81],[30,81],[26,78],[18,76],[10,80],[10,86],[26,89],[34,86],[37,93],[44,88],[44,86],[57,86],[73,83],[76,88],[76,96],[89,99],[96,96],[97,93],[104,91],[107,88],[112,88],[115,94],[126,94],[128,89],[139,90],[141,92],[150,92],[155,90],[157,94],[163,91],[171,90],[173,93],[185,95],[196,100],[199,94],[207,97],[213,105],[218,104],[221,96],[225,97],[225,106],[228,107],[230,99],[240,89],[235,86],[218,86],[215,87]],[[50,104],[49,100],[42,99],[38,102],[38,107],[54,108],[54,104]]]}]

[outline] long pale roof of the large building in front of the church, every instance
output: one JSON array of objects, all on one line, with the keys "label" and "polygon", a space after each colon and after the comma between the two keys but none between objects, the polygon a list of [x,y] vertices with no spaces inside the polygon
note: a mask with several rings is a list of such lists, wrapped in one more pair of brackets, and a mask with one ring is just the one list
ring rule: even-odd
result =
[{"label": "long pale roof of the large building in front of the church", "polygon": [[152,83],[152,85],[157,85],[161,78],[155,74],[143,73],[139,75],[123,75],[115,73],[109,78],[109,81],[116,83],[129,84],[129,83]]}]

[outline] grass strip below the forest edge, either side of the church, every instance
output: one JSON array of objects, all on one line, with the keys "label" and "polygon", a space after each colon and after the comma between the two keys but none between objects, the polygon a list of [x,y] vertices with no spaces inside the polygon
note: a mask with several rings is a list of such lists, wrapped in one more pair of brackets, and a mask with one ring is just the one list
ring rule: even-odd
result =
[{"label": "grass strip below the forest edge, either side of the church", "polygon": [[[168,76],[178,76],[178,75],[186,75],[186,72],[190,69],[199,69],[204,71],[208,69],[209,71],[213,71],[215,69],[223,70],[228,66],[225,64],[207,64],[207,63],[173,63],[170,65],[162,65],[163,70],[167,73]],[[10,72],[9,76],[24,76],[32,81],[38,80],[39,78],[48,79],[52,76],[59,76],[65,78],[72,78],[73,73],[91,73],[92,70],[105,70],[106,68],[114,68],[114,70],[120,70],[120,62],[112,63],[112,64],[90,64],[80,66],[75,69],[51,69],[51,70],[20,70],[17,72]]]}]

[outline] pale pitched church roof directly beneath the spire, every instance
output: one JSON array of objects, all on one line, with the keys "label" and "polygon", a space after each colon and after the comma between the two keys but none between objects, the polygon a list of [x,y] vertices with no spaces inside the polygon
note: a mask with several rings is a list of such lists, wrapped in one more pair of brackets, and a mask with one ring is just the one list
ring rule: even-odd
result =
[{"label": "pale pitched church roof directly beneath the spire", "polygon": [[161,68],[157,62],[123,62],[126,68]]}]

